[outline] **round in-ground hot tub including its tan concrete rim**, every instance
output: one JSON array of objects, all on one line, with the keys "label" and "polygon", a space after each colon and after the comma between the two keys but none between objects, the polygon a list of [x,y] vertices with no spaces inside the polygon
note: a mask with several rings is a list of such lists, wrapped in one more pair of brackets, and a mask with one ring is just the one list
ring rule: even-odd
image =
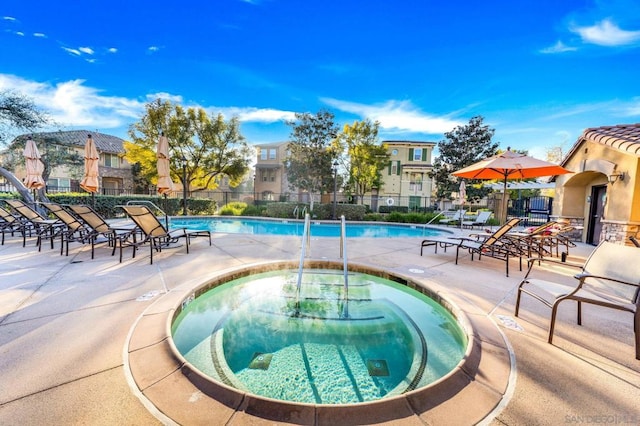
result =
[{"label": "round in-ground hot tub including its tan concrete rim", "polygon": [[305,262],[300,286],[296,268],[222,272],[151,305],[125,347],[147,408],[165,423],[334,425],[474,424],[499,406],[512,361],[490,319],[371,266],[349,264],[348,286],[342,263]]}]

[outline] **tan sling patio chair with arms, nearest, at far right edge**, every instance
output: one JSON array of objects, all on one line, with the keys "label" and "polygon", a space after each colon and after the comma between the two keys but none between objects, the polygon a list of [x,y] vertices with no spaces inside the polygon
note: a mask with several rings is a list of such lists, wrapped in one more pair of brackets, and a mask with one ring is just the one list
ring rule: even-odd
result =
[{"label": "tan sling patio chair with arms, nearest, at far right edge", "polygon": [[[635,332],[636,359],[640,359],[640,250],[604,241],[591,253],[584,265],[544,259],[543,265],[559,264],[575,267],[580,272],[577,282],[567,284],[534,278],[540,259],[529,260],[529,270],[518,286],[515,316],[518,316],[522,294],[528,294],[551,308],[548,342],[552,343],[558,306],[565,300],[578,302],[578,325],[582,325],[582,303],[631,312]],[[559,276],[560,277],[560,276]]]}]

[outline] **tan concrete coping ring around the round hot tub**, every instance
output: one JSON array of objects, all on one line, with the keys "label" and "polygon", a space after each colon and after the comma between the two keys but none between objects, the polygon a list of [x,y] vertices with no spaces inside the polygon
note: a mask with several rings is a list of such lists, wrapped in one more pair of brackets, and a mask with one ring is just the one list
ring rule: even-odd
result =
[{"label": "tan concrete coping ring around the round hot tub", "polygon": [[[309,260],[307,267],[327,265]],[[142,403],[165,424],[220,420],[246,424],[258,419],[295,424],[366,424],[402,420],[406,424],[478,423],[497,415],[514,385],[514,354],[504,334],[489,316],[469,301],[440,286],[356,263],[349,270],[375,271],[398,278],[438,297],[459,319],[469,336],[463,360],[445,377],[402,395],[359,404],[316,405],[272,400],[238,391],[205,377],[184,360],[173,345],[171,321],[182,301],[205,283],[233,279],[247,269],[260,272],[291,267],[290,261],[259,262],[189,280],[150,305],[132,326],[123,358],[129,384]],[[257,271],[254,271],[257,272]],[[463,407],[463,408],[461,408]]]}]

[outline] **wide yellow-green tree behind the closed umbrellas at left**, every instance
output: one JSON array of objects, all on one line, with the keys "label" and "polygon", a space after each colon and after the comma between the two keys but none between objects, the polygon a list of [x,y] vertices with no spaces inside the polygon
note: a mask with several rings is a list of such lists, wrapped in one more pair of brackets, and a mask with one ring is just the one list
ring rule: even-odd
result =
[{"label": "wide yellow-green tree behind the closed umbrellas at left", "polygon": [[[209,116],[202,108],[183,108],[169,101],[147,104],[140,121],[131,125],[125,158],[138,164],[139,176],[157,182],[156,146],[162,133],[169,140],[171,177],[191,191],[215,189],[224,177],[231,186],[249,171],[251,150],[237,118]],[[186,164],[183,182],[182,159]]]}]

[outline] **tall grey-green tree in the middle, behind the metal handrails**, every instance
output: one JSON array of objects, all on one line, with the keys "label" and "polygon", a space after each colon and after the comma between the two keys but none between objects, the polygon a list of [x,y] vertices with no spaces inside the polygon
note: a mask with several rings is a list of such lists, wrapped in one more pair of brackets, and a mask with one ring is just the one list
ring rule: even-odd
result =
[{"label": "tall grey-green tree in the middle, behind the metal handrails", "polygon": [[296,113],[296,119],[288,121],[291,127],[289,154],[285,168],[291,189],[299,188],[311,195],[333,190],[332,164],[338,155],[332,141],[338,134],[334,115],[329,111]]}]

